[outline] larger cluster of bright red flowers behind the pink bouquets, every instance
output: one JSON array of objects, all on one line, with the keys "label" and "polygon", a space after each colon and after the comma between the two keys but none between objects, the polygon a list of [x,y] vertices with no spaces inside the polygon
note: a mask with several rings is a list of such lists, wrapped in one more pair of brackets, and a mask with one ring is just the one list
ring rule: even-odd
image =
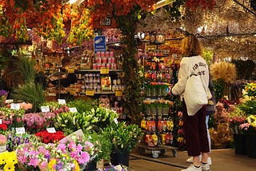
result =
[{"label": "larger cluster of bright red flowers behind the pink bouquets", "polygon": [[46,144],[56,143],[65,137],[62,131],[57,131],[56,133],[48,133],[46,130],[35,133],[35,136],[39,137],[39,139]]}]

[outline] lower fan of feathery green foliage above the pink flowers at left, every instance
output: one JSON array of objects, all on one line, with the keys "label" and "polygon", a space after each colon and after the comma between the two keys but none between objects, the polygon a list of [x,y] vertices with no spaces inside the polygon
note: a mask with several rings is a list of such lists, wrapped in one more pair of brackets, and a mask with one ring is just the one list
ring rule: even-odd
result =
[{"label": "lower fan of feathery green foliage above the pink flowers at left", "polygon": [[16,101],[31,103],[34,112],[39,111],[39,105],[46,101],[46,94],[42,85],[34,84],[34,82],[26,82],[24,85],[14,88],[11,97]]}]

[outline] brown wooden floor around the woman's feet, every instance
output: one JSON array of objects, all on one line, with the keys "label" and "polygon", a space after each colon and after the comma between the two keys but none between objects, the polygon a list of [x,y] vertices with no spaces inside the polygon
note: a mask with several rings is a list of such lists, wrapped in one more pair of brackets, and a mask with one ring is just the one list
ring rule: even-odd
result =
[{"label": "brown wooden floor around the woman's feet", "polygon": [[[256,159],[246,155],[234,153],[234,149],[214,149],[211,153],[213,165],[212,171],[256,171]],[[174,157],[171,151],[158,158],[153,158],[151,152],[140,155],[130,153],[130,171],[178,171],[188,167],[186,163],[187,153],[177,152]]]}]

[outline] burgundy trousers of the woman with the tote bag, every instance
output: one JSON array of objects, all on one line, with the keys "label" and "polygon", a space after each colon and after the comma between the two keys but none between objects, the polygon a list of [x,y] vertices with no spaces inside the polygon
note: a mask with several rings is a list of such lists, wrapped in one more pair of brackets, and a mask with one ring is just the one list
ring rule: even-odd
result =
[{"label": "burgundy trousers of the woman with the tote bag", "polygon": [[199,156],[210,152],[206,130],[206,105],[202,106],[194,116],[186,111],[185,101],[182,102],[183,126],[186,149],[189,156]]}]

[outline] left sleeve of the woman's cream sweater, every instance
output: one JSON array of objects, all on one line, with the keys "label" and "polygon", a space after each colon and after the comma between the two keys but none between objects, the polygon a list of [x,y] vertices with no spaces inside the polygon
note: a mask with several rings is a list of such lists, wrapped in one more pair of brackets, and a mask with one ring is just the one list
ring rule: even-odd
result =
[{"label": "left sleeve of the woman's cream sweater", "polygon": [[181,66],[178,72],[178,82],[174,85],[173,89],[171,89],[171,93],[174,95],[180,95],[184,92],[188,78],[188,71],[188,62],[186,58],[182,58]]}]

